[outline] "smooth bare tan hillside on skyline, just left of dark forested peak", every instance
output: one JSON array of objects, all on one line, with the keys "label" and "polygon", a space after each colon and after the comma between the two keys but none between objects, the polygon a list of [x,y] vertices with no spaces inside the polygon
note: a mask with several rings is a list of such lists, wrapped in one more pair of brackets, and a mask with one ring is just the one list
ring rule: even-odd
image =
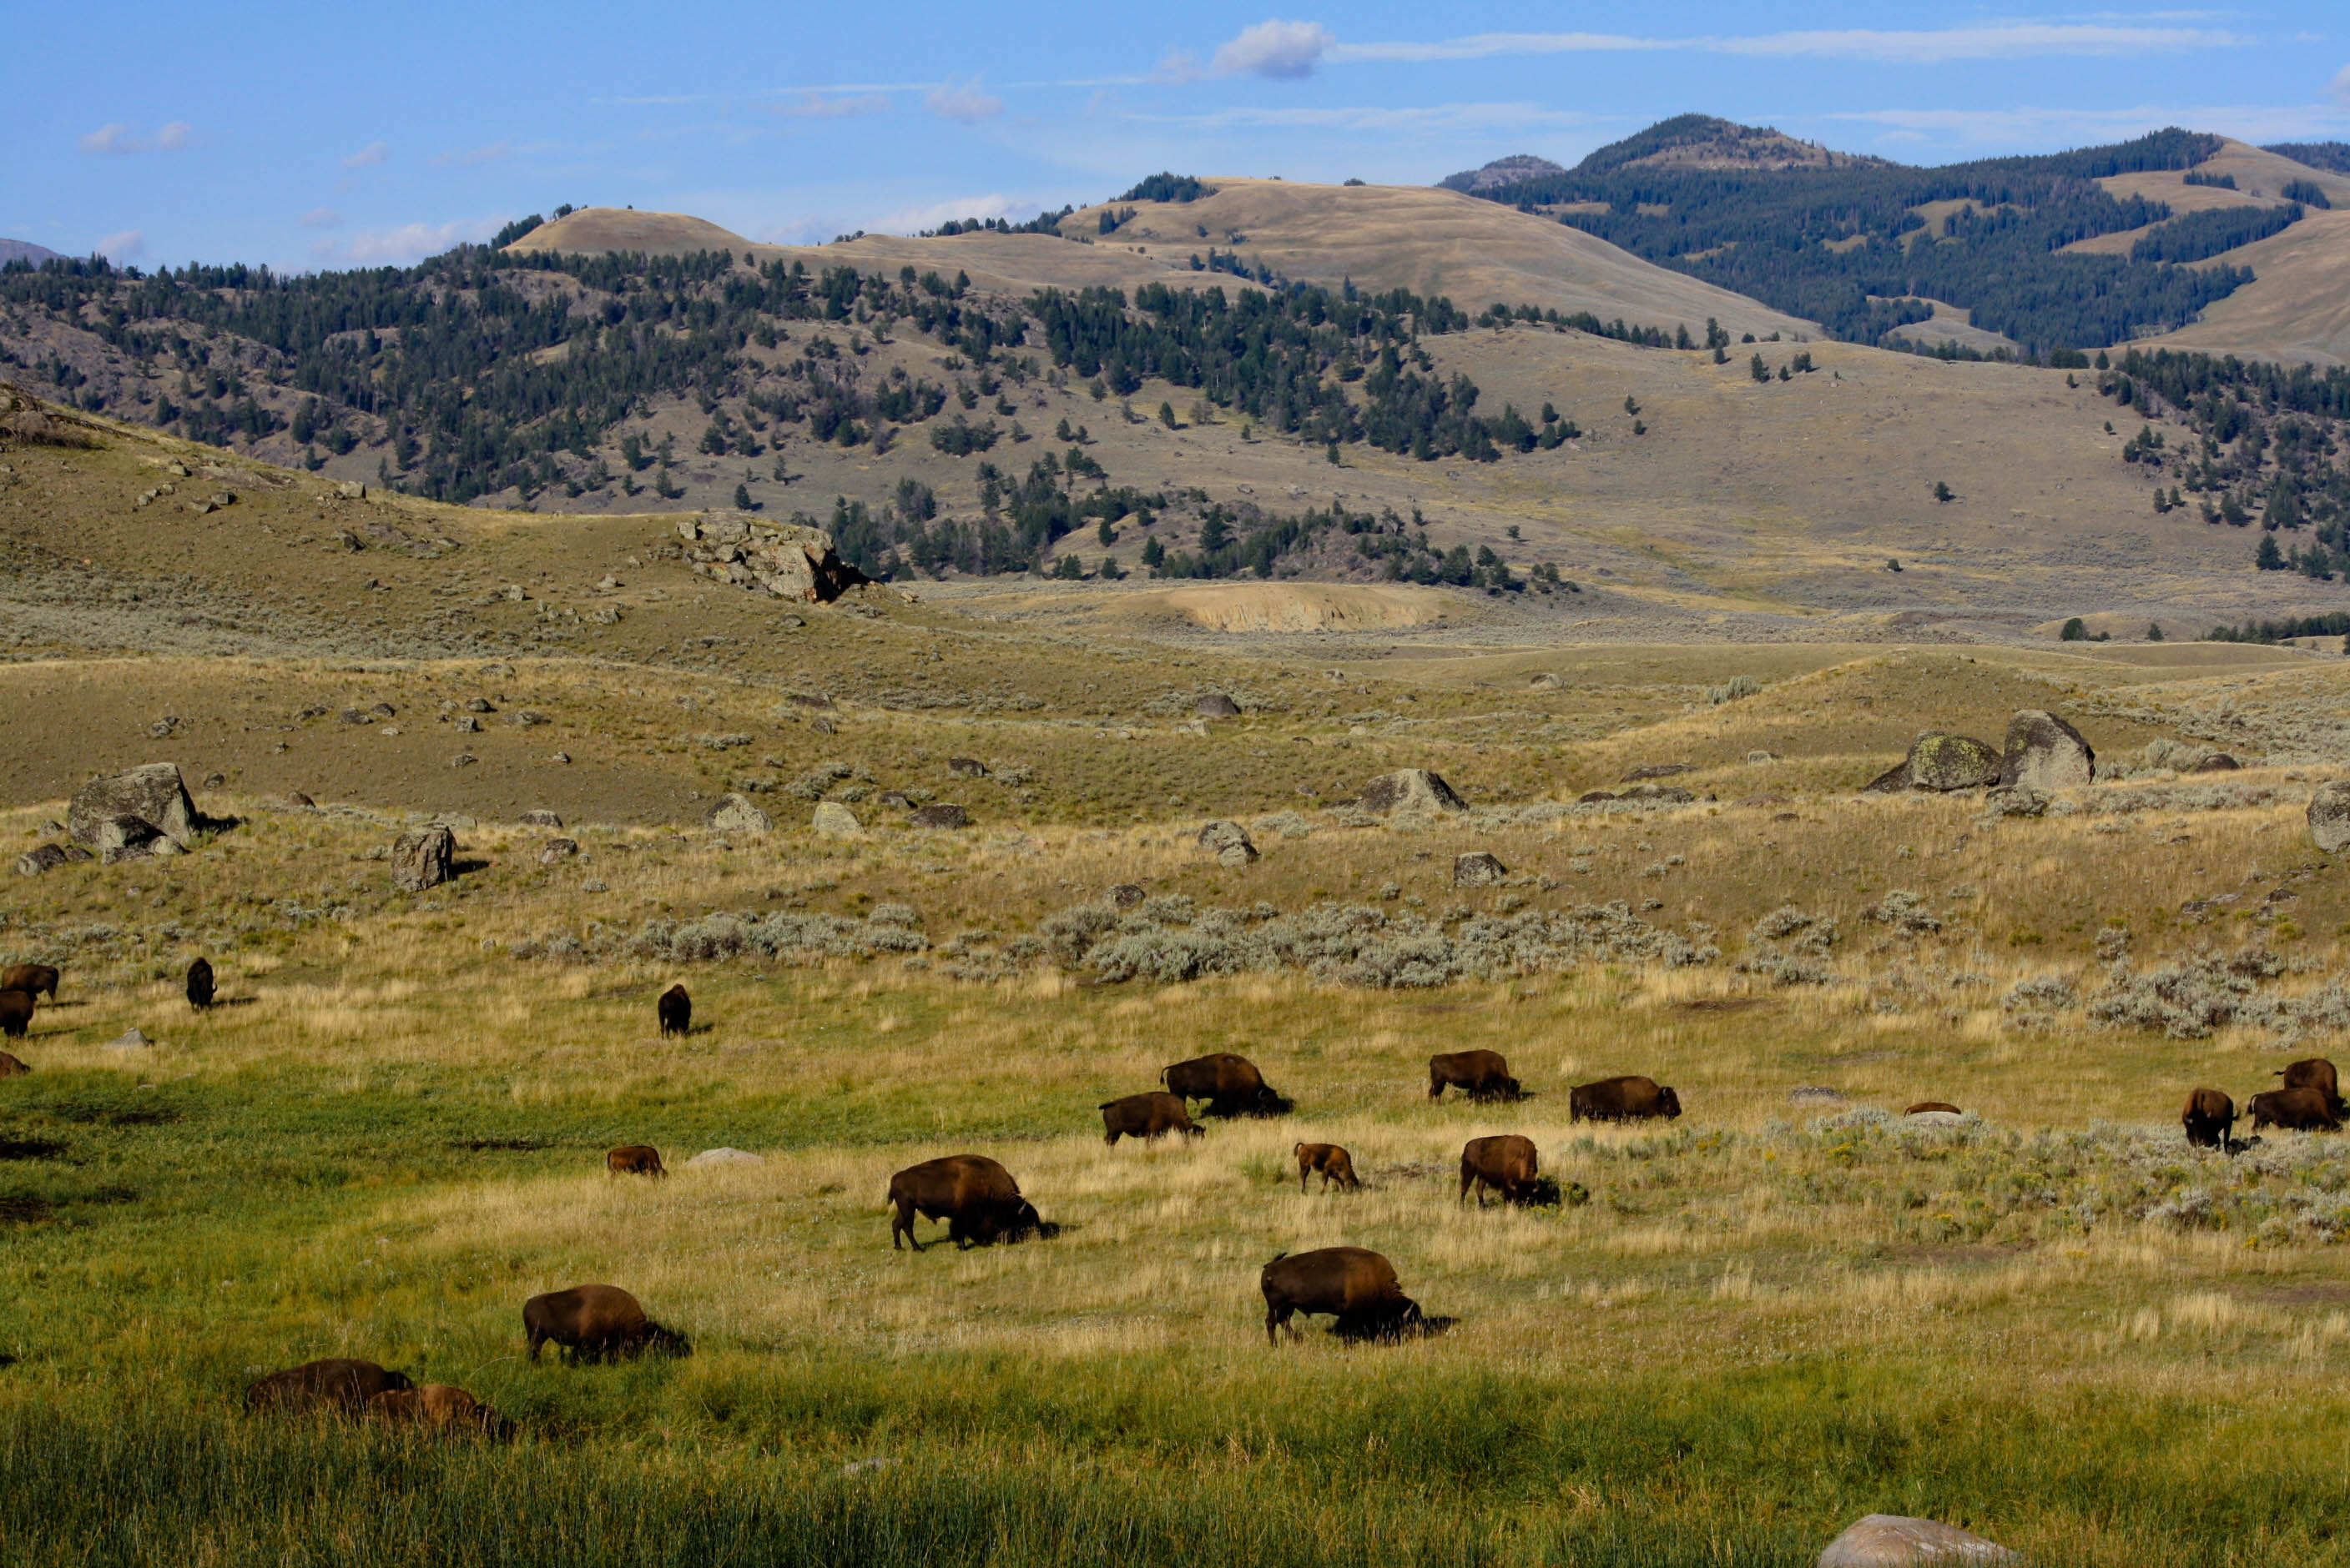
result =
[{"label": "smooth bare tan hillside on skyline, just left of dark forested peak", "polygon": [[[1210,246],[1238,251],[1283,277],[1314,284],[1354,279],[1363,289],[1443,293],[1464,310],[1544,305],[1636,326],[1685,324],[1704,333],[1706,317],[1739,333],[1819,329],[1744,293],[1640,261],[1605,239],[1497,202],[1426,185],[1304,185],[1292,181],[1217,178],[1196,202],[1121,202],[1135,209],[1102,244],[1168,254],[1177,265]],[[1062,223],[1095,232],[1100,207]]]}]

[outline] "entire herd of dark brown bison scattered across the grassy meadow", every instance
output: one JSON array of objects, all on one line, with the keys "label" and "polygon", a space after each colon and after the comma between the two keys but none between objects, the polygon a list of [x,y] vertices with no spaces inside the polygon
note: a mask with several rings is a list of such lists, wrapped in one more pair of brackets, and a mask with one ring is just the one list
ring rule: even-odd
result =
[{"label": "entire herd of dark brown bison scattered across the grassy meadow", "polygon": [[[0,1030],[24,1038],[31,1030],[38,998],[56,1002],[59,972],[49,965],[12,965],[0,969]],[[212,965],[197,958],[188,967],[188,1005],[207,1009],[214,1002]],[[684,986],[670,986],[656,1002],[663,1035],[684,1035],[693,1021],[693,1000]],[[24,1061],[0,1052],[0,1077],[28,1073]],[[2324,1129],[2338,1131],[2343,1101],[2334,1063],[2312,1056],[2296,1061],[2280,1073],[2282,1087],[2254,1094],[2249,1103],[2254,1131]],[[1246,1056],[1217,1052],[1177,1061],[1159,1073],[1161,1089],[1128,1094],[1104,1101],[1102,1136],[1116,1148],[1119,1138],[1156,1141],[1166,1134],[1187,1138],[1206,1129],[1191,1120],[1191,1103],[1203,1101],[1203,1115],[1215,1117],[1269,1117],[1292,1110],[1292,1101],[1276,1094],[1264,1075]],[[1429,1099],[1443,1099],[1445,1089],[1459,1091],[1469,1101],[1520,1101],[1525,1087],[1511,1077],[1509,1061],[1499,1052],[1448,1052],[1429,1059]],[[1922,1101],[1904,1115],[1955,1113],[1958,1106]],[[1650,1077],[1605,1077],[1577,1084],[1567,1094],[1570,1122],[1633,1122],[1671,1120],[1680,1115],[1680,1096]],[[2188,1094],[2181,1124],[2188,1143],[2230,1150],[2235,1148],[2235,1101],[2218,1089],[2195,1089]],[[1361,1188],[1354,1171],[1354,1155],[1337,1143],[1297,1143],[1297,1190],[1307,1190],[1311,1176],[1321,1176],[1321,1190]],[[606,1169],[613,1176],[667,1176],[660,1150],[632,1143],[611,1150]],[[1497,1192],[1509,1204],[1556,1202],[1556,1183],[1539,1174],[1532,1138],[1523,1134],[1495,1134],[1471,1138],[1462,1148],[1459,1202],[1476,1192],[1478,1207],[1485,1195]],[[1058,1225],[1036,1214],[1020,1192],[1020,1183],[987,1155],[945,1155],[912,1164],[888,1181],[891,1249],[902,1251],[907,1242],[921,1251],[914,1237],[914,1218],[945,1221],[947,1239],[959,1249],[992,1242],[1020,1242],[1027,1237],[1050,1237]],[[1363,1246],[1323,1246],[1307,1253],[1276,1253],[1260,1275],[1264,1293],[1264,1338],[1281,1343],[1281,1329],[1292,1317],[1323,1314],[1335,1319],[1335,1333],[1347,1340],[1398,1340],[1415,1333],[1441,1333],[1452,1319],[1426,1317],[1396,1279],[1396,1265]],[[545,1345],[557,1345],[573,1361],[604,1361],[634,1354],[691,1354],[693,1345],[684,1333],[665,1329],[646,1317],[634,1296],[613,1284],[580,1284],[569,1291],[548,1291],[522,1303],[522,1329],[529,1338],[531,1361]],[[369,1415],[385,1422],[407,1422],[439,1430],[477,1430],[489,1437],[512,1432],[496,1408],[477,1401],[461,1387],[428,1383],[416,1387],[407,1376],[348,1357],[306,1361],[287,1371],[270,1373],[247,1390],[247,1406],[254,1411],[331,1411],[345,1415]]]}]

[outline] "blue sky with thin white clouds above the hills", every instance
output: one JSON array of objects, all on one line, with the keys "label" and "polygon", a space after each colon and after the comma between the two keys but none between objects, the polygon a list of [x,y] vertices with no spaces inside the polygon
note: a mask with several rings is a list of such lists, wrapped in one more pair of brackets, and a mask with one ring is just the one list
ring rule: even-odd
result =
[{"label": "blue sky with thin white clouds above the hills", "polygon": [[1904,162],[2160,124],[2350,138],[2350,7],[26,7],[0,237],[404,263],[559,202],[754,239],[1034,216],[1142,174],[1429,183],[1704,110]]}]

